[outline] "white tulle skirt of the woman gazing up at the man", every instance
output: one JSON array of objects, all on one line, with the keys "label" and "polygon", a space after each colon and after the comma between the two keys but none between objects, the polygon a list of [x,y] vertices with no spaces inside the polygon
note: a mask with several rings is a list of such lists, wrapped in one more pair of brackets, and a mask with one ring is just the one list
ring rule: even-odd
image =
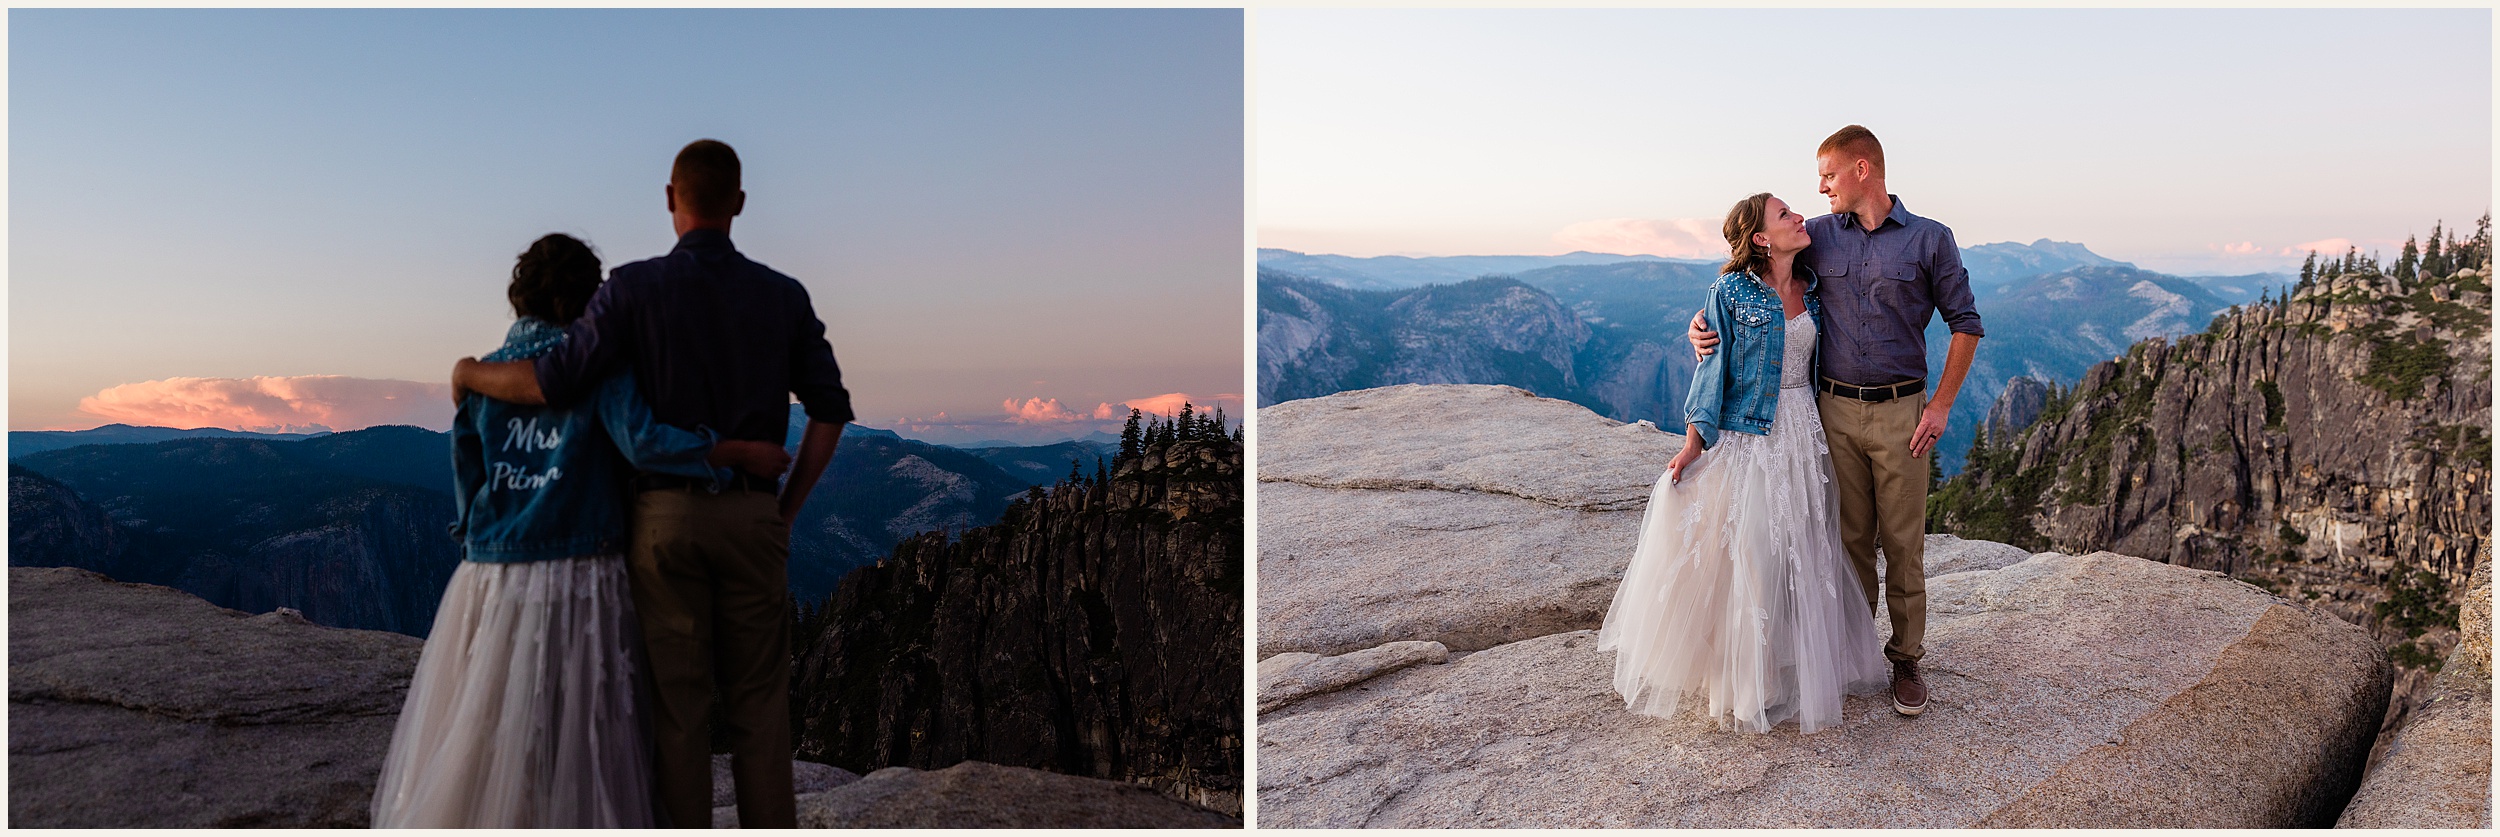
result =
[{"label": "white tulle skirt of the woman gazing up at the man", "polygon": [[1658,477],[1598,650],[1642,715],[1700,697],[1722,727],[1840,722],[1842,695],[1890,685],[1875,617],[1840,552],[1830,447],[1812,387],[1780,390],[1770,435],[1720,432]]}]

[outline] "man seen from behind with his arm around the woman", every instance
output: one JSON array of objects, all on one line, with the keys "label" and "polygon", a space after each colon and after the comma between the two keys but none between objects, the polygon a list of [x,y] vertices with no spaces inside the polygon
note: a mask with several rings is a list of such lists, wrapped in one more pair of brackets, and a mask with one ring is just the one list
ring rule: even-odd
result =
[{"label": "man seen from behind with his arm around the woman", "polygon": [[850,392],[808,290],[730,245],[745,210],[738,152],[695,140],[668,177],[678,247],[610,272],[568,340],[535,362],[452,367],[455,390],[568,405],[632,370],[652,417],[728,440],[788,442],[790,395],[808,432],[775,495],[770,480],[710,492],[635,480],[632,602],[658,687],[655,792],[672,827],[712,825],[712,690],[720,690],[740,827],[798,827],[790,795],[790,520],[832,460]]}]

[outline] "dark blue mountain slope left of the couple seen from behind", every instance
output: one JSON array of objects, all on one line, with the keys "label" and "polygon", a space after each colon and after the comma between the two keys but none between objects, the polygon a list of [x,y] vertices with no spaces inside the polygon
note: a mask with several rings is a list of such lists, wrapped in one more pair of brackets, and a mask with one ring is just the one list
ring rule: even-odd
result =
[{"label": "dark blue mountain slope left of the couple seen from behind", "polygon": [[[378,432],[422,432],[380,427]],[[460,545],[452,502],[398,482],[408,455],[352,460],[312,442],[185,440],[75,447],[10,465],[10,565],[168,585],[220,607],[292,607],[330,627],[422,637]],[[430,450],[425,465],[440,460]],[[315,465],[318,462],[318,465]],[[415,470],[415,467],[400,467]]]}]

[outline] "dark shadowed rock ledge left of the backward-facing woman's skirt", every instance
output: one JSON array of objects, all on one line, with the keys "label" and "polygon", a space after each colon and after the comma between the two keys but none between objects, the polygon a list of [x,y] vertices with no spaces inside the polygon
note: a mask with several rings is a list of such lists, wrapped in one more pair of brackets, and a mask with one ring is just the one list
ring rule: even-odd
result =
[{"label": "dark shadowed rock ledge left of the backward-facing woman's skirt", "polygon": [[10,567],[12,827],[365,827],[420,640]]}]

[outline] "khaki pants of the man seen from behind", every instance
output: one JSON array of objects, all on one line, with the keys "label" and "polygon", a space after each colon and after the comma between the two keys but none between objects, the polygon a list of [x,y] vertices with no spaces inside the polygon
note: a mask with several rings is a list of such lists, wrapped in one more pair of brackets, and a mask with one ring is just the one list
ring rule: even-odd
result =
[{"label": "khaki pants of the man seen from behind", "polygon": [[768,492],[635,497],[632,605],[655,700],[655,782],[672,827],[712,827],[718,687],[740,827],[798,827],[790,795],[790,532]]}]

